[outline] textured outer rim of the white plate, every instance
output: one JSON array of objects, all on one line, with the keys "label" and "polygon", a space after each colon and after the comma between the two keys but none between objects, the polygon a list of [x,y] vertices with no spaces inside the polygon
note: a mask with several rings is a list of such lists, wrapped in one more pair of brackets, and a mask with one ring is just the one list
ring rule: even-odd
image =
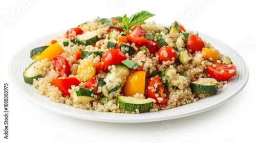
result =
[{"label": "textured outer rim of the white plate", "polygon": [[[189,29],[190,30],[190,29]],[[194,31],[194,30],[190,30],[190,31]],[[156,122],[156,121],[164,121],[164,120],[172,120],[174,118],[180,118],[180,117],[186,117],[186,116],[190,116],[190,115],[195,115],[195,114],[198,114],[198,113],[201,113],[201,112],[205,112],[207,110],[210,110],[212,108],[215,108],[227,101],[229,101],[230,99],[232,99],[234,96],[236,96],[239,92],[241,92],[244,87],[246,86],[247,82],[248,82],[248,79],[249,79],[249,68],[248,68],[248,65],[247,63],[245,62],[245,60],[236,52],[234,51],[234,49],[232,49],[229,45],[227,45],[226,43],[214,38],[214,37],[211,37],[209,35],[206,35],[204,33],[199,33],[200,37],[202,37],[203,40],[206,40],[207,42],[211,43],[209,41],[209,39],[207,40],[207,38],[211,38],[211,40],[215,40],[217,41],[219,44],[222,44],[222,45],[225,45],[228,47],[228,51],[231,51],[232,53],[234,53],[236,56],[239,57],[239,59],[241,60],[241,62],[243,63],[245,69],[245,77],[242,79],[242,83],[241,85],[243,86],[239,86],[239,88],[237,88],[238,90],[236,91],[233,91],[231,92],[232,94],[230,94],[229,96],[226,96],[225,98],[222,98],[221,100],[217,101],[216,103],[214,104],[208,104],[207,106],[204,106],[203,108],[198,108],[198,109],[194,109],[194,110],[190,110],[190,111],[186,111],[186,112],[182,112],[180,114],[175,114],[175,115],[172,115],[172,116],[161,116],[161,117],[157,117],[157,115],[159,115],[159,113],[161,112],[166,112],[166,111],[170,111],[172,109],[168,109],[168,110],[161,110],[161,111],[158,111],[158,112],[147,112],[147,113],[140,113],[140,114],[125,114],[125,113],[111,113],[111,112],[97,112],[97,111],[91,111],[91,110],[85,110],[85,109],[79,109],[79,108],[75,108],[75,107],[72,107],[72,106],[69,106],[69,105],[66,105],[66,104],[62,104],[62,103],[55,103],[53,101],[50,101],[48,97],[45,97],[45,96],[42,96],[40,94],[37,94],[35,92],[35,94],[37,96],[41,96],[42,98],[46,98],[47,103],[50,102],[51,105],[53,104],[56,104],[59,105],[60,107],[62,106],[68,106],[67,108],[71,107],[71,108],[74,108],[74,110],[81,110],[81,112],[93,112],[92,114],[102,114],[102,115],[105,115],[105,114],[108,114],[110,116],[112,116],[112,114],[122,114],[125,116],[125,118],[116,118],[115,116],[113,117],[109,117],[109,118],[105,118],[105,117],[102,117],[102,116],[91,116],[91,115],[84,115],[84,114],[76,114],[76,113],[72,113],[72,112],[67,112],[65,110],[60,110],[58,108],[54,108],[52,106],[48,106],[46,103],[42,103],[38,100],[35,100],[35,99],[32,99],[30,98],[29,96],[26,96],[26,93],[24,91],[24,89],[22,87],[20,87],[17,82],[15,81],[14,77],[13,77],[13,73],[15,72],[15,70],[13,70],[13,63],[15,62],[16,58],[18,56],[18,54],[22,51],[24,51],[26,48],[28,48],[29,45],[32,45],[33,43],[37,42],[38,40],[40,39],[48,39],[50,40],[50,38],[55,38],[56,36],[60,36],[61,34],[63,34],[65,31],[59,31],[59,32],[56,32],[56,33],[52,33],[52,34],[49,34],[49,35],[45,35],[45,36],[42,36],[38,39],[35,39],[33,40],[32,42],[29,42],[28,44],[26,44],[25,46],[22,47],[22,49],[18,50],[14,56],[11,58],[10,62],[9,62],[9,65],[8,65],[8,73],[9,73],[9,78],[11,80],[11,83],[13,85],[15,85],[15,89],[16,91],[18,91],[18,93],[20,93],[22,95],[22,97],[24,97],[26,100],[30,101],[31,103],[37,105],[37,106],[40,106],[42,108],[45,108],[45,109],[48,109],[50,111],[53,111],[55,113],[59,113],[59,114],[62,114],[62,115],[66,115],[66,116],[71,116],[71,117],[75,117],[75,118],[80,118],[80,119],[83,119],[83,120],[89,120],[89,121],[97,121],[97,122],[111,122],[111,123],[142,123],[142,122]],[[202,36],[203,35],[203,36]],[[205,37],[207,37],[205,39]],[[45,43],[47,41],[41,41],[39,43]],[[221,49],[218,49],[221,51]],[[28,53],[29,55],[29,53]],[[31,60],[32,62],[32,60]],[[15,73],[16,74],[16,73]],[[23,79],[22,79],[23,80]],[[31,88],[34,88],[32,85],[30,85]],[[224,85],[225,87],[225,85]],[[35,88],[34,88],[35,89]],[[218,94],[214,95],[214,96],[218,96]],[[208,98],[208,97],[207,97]],[[207,99],[205,98],[205,99]],[[202,100],[205,100],[205,99],[200,99],[198,102],[201,102]],[[190,104],[197,104],[197,103],[190,103]],[[190,105],[190,104],[187,104],[187,105]],[[187,106],[187,105],[182,105],[182,106]],[[182,106],[179,106],[179,107],[176,107],[177,108],[182,108]],[[175,108],[173,108],[175,109]],[[151,118],[145,118],[145,117],[138,117],[140,116],[141,114],[156,114],[156,116],[154,117],[151,117]]]}]

